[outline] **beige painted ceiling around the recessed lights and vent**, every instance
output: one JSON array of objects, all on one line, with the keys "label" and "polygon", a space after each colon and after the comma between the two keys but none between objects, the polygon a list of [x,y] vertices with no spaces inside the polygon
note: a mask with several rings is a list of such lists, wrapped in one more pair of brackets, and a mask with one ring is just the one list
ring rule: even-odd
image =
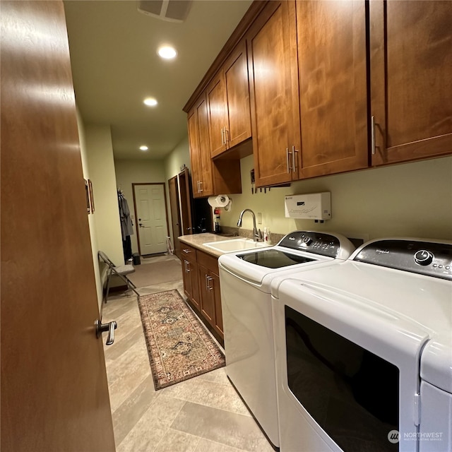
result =
[{"label": "beige painted ceiling around the recessed lights and vent", "polygon": [[[64,1],[76,102],[85,124],[111,126],[115,159],[161,159],[184,139],[182,108],[251,3],[194,0],[174,23],[138,12],[136,0]],[[177,59],[158,57],[162,43]]]}]

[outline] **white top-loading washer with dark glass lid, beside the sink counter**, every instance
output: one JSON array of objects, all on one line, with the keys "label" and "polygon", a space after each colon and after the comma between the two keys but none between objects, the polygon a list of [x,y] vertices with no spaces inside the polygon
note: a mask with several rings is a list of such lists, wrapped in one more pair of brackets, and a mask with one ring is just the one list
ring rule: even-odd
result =
[{"label": "white top-loading washer with dark glass lid, beside the sink counter", "polygon": [[340,234],[295,231],[276,246],[218,259],[227,376],[275,450],[279,429],[271,281],[277,275],[334,265],[354,249]]}]

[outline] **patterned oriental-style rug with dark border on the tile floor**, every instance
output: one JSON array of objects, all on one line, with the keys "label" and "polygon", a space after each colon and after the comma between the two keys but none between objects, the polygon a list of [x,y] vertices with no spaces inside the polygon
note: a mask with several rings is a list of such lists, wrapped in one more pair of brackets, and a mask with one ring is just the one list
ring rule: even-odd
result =
[{"label": "patterned oriental-style rug with dark border on the tile floor", "polygon": [[225,355],[177,290],[138,299],[155,390],[225,366]]}]

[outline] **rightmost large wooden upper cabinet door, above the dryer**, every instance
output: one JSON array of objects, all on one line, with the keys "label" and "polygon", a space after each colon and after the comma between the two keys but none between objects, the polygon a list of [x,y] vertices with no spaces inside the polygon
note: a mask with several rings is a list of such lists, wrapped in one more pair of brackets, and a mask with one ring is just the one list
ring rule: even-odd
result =
[{"label": "rightmost large wooden upper cabinet door, above the dryer", "polygon": [[369,8],[372,164],[451,153],[452,2],[372,0]]}]

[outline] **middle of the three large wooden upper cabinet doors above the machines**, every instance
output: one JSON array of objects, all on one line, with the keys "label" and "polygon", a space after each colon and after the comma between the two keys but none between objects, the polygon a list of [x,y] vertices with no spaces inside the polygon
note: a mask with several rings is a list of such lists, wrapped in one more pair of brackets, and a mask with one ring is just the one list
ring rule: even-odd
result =
[{"label": "middle of the three large wooden upper cabinet doors above the machines", "polygon": [[366,168],[366,8],[297,1],[301,177]]}]

